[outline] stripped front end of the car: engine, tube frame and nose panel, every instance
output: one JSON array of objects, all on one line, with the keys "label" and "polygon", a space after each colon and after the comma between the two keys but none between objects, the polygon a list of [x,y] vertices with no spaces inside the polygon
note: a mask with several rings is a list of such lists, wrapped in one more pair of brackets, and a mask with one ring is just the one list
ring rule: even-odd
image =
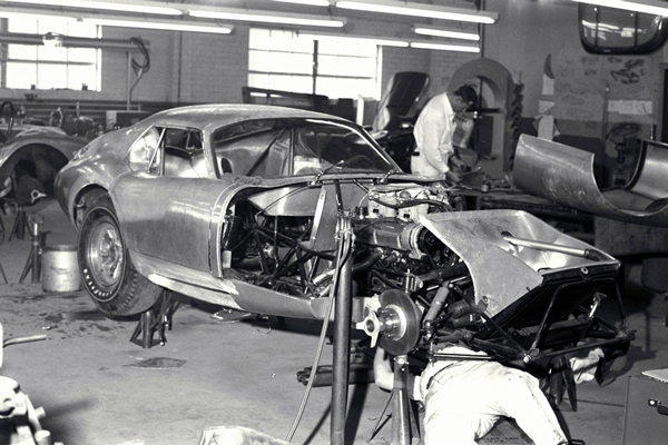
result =
[{"label": "stripped front end of the car: engine, tube frame and nose panel", "polygon": [[546,370],[580,348],[605,347],[613,359],[632,338],[623,320],[620,330],[596,316],[606,293],[616,296],[619,263],[523,211],[456,211],[451,190],[415,184],[246,198],[223,234],[223,276],[324,317],[348,220],[353,322],[392,354],[418,348],[433,359],[434,345],[455,342]]}]

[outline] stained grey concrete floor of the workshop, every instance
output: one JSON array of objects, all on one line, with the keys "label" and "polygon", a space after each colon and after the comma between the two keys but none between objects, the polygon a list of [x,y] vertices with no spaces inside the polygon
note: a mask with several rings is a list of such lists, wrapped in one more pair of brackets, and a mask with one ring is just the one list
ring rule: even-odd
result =
[{"label": "stained grey concrete floor of the workshop", "polygon": [[[47,245],[75,244],[76,233],[58,205],[46,200],[29,209],[45,217]],[[100,316],[85,291],[46,293],[28,274],[30,236],[8,240],[13,212],[2,216],[0,322],[7,337],[46,334],[45,342],[10,346],[2,375],[21,384],[35,406],[46,411],[42,427],[65,445],[197,444],[204,429],[240,425],[284,438],[305,386],[297,372],[311,366],[320,323],[275,318],[223,323],[218,309],[188,301],[174,316],[165,346],[144,349],[129,342],[136,322]],[[589,445],[621,444],[629,376],[668,366],[666,303],[637,285],[628,267],[625,289],[628,323],[637,330],[627,366],[611,384],[578,385],[578,411],[558,409],[572,438]],[[0,278],[1,283],[1,278]],[[332,346],[322,364],[330,364]],[[151,360],[153,359],[153,360]],[[160,367],[145,366],[157,363]],[[348,444],[365,444],[387,400],[375,385],[351,385]],[[293,438],[298,444],[330,443],[331,387],[313,389]],[[391,424],[371,441],[386,444]],[[480,441],[524,444],[504,423]]]}]

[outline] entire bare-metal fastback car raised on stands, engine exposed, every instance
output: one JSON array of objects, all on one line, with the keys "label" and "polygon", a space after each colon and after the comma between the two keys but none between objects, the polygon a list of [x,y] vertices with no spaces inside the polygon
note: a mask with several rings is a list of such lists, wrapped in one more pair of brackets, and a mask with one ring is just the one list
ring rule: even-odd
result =
[{"label": "entire bare-metal fastback car raised on stands, engine exposed", "polygon": [[455,211],[455,188],[402,172],[362,128],[327,115],[167,110],[85,147],[57,196],[108,315],[147,310],[167,288],[326,318],[346,220],[352,322],[391,353],[445,338],[529,364],[584,340],[623,350],[631,337],[595,315],[615,258],[522,211]]}]

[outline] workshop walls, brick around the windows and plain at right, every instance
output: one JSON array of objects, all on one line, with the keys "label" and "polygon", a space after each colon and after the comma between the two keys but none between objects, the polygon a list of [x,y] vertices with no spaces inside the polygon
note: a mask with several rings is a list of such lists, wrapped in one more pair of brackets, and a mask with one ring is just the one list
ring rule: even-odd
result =
[{"label": "workshop walls, brick around the windows and plain at right", "polygon": [[[468,0],[442,0],[443,4],[472,8]],[[522,116],[533,119],[549,113],[561,134],[600,138],[602,121],[623,122],[623,111],[641,113],[648,100],[658,110],[656,86],[661,51],[652,56],[612,59],[587,55],[581,47],[577,23],[577,3],[570,0],[487,1],[485,9],[500,13],[497,24],[484,26],[481,55],[383,48],[382,89],[400,71],[423,71],[430,76],[425,98],[448,88],[452,75],[470,60],[484,57],[500,62],[522,83]],[[446,23],[434,23],[446,24]],[[356,23],[394,37],[391,21]],[[150,70],[136,86],[131,99],[179,103],[240,102],[248,67],[248,26],[235,26],[233,34],[151,31],[124,28],[104,29],[104,37],[127,40],[140,37],[149,42]],[[141,61],[141,56],[134,51]],[[556,76],[547,77],[546,67]],[[627,82],[630,79],[632,83]],[[132,73],[131,80],[135,80]],[[605,82],[609,90],[601,91]],[[625,83],[627,82],[627,83]],[[596,88],[592,88],[596,87]],[[128,60],[125,51],[104,50],[102,90],[38,90],[38,98],[65,100],[125,101],[128,89]],[[27,90],[2,90],[4,98],[22,100]],[[660,91],[662,92],[662,91]],[[603,93],[612,101],[612,111],[603,112]],[[635,99],[636,102],[629,101]],[[551,110],[550,102],[554,103]],[[372,105],[372,103],[370,103]],[[652,116],[633,115],[647,123]],[[576,119],[573,119],[576,117]]]}]

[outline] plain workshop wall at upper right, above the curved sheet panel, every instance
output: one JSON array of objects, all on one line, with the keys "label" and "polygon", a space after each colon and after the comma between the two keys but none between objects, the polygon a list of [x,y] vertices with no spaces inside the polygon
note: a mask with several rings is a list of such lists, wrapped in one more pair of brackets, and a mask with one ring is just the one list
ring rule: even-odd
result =
[{"label": "plain workshop wall at upper right, above the curved sheet panel", "polygon": [[586,52],[572,1],[487,4],[501,19],[485,26],[483,57],[500,62],[523,83],[523,117],[552,116],[556,130],[582,137],[605,135],[605,122],[654,122],[660,105],[651,103],[660,100],[660,51],[623,57]]}]

